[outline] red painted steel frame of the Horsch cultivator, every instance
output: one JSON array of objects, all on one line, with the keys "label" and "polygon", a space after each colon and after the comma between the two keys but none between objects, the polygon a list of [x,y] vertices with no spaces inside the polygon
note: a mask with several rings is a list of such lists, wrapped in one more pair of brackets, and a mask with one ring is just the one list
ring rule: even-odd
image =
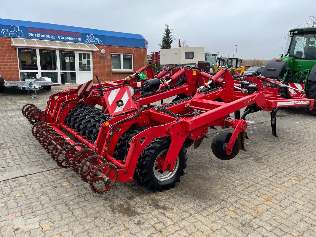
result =
[{"label": "red painted steel frame of the Horsch cultivator", "polygon": [[[234,128],[232,137],[226,148],[226,154],[231,154],[236,138],[240,132],[246,131],[247,123],[245,119],[232,120],[228,117],[230,113],[250,105],[255,105],[263,111],[272,111],[276,107],[298,107],[301,106],[301,102],[304,102],[304,105],[308,105],[309,109],[313,108],[314,100],[306,99],[305,94],[301,97],[292,97],[291,99],[280,98],[276,88],[267,89],[263,85],[262,81],[273,81],[264,77],[258,77],[253,80],[253,82],[258,84],[258,91],[255,91],[253,94],[245,94],[234,88],[234,83],[236,85],[239,81],[234,80],[233,76],[231,76],[226,69],[220,70],[213,76],[201,70],[188,69],[178,70],[173,76],[167,74],[164,74],[163,76],[167,77],[167,79],[171,78],[174,82],[174,80],[183,75],[186,76],[187,80],[183,85],[164,92],[163,94],[155,95],[154,97],[141,98],[137,101],[137,105],[148,104],[179,93],[185,94],[185,92],[192,90],[192,88],[196,88],[197,82],[202,85],[202,89],[203,87],[208,89],[209,84],[213,87],[220,85],[220,87],[208,91],[199,88],[193,98],[177,104],[165,106],[168,111],[178,115],[191,114],[192,112],[199,111],[199,114],[194,117],[184,116],[175,119],[173,115],[163,112],[159,106],[144,107],[140,109],[140,111],[132,112],[130,114],[122,114],[104,122],[101,125],[95,144],[92,144],[90,141],[78,135],[74,129],[71,129],[64,124],[67,113],[76,105],[75,91],[67,90],[63,93],[52,95],[50,104],[47,105],[45,111],[47,114],[46,122],[70,143],[73,144],[75,142],[64,134],[61,131],[62,129],[74,135],[81,142],[86,143],[88,147],[94,149],[97,154],[105,157],[106,161],[111,162],[118,167],[118,181],[129,182],[133,180],[136,162],[139,156],[145,147],[155,138],[171,137],[170,147],[167,151],[162,170],[172,172],[185,139],[191,138],[192,140],[198,140],[201,137],[204,137],[204,135],[208,133],[209,127],[212,126]],[[251,78],[248,79],[251,81]],[[163,86],[166,86],[166,81],[161,84],[161,87],[158,90],[163,88]],[[133,85],[133,83],[134,82],[131,82],[131,85]],[[189,95],[193,94],[191,91],[189,92]],[[65,93],[69,94],[63,95]],[[60,97],[60,95],[63,96]],[[58,98],[54,98],[55,96]],[[104,105],[104,98],[99,96],[100,94],[93,92],[93,95],[90,98],[85,99],[84,103],[92,106],[96,104]],[[99,100],[97,100],[98,98]],[[291,102],[293,101],[295,101],[295,104],[291,105]],[[289,102],[289,104],[286,104],[286,102]],[[165,104],[162,104],[162,106],[164,105]],[[119,138],[132,125],[147,127],[147,129],[138,133],[131,139],[130,149],[125,161],[114,159],[112,155]]]}]

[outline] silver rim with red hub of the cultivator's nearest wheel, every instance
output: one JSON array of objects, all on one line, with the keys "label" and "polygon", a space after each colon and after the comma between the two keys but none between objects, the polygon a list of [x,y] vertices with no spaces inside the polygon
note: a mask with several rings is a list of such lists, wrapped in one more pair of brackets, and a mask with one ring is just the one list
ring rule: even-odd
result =
[{"label": "silver rim with red hub of the cultivator's nearest wheel", "polygon": [[155,178],[158,179],[159,181],[165,181],[165,180],[171,179],[177,173],[177,170],[179,168],[179,156],[178,156],[174,164],[173,172],[162,171],[162,166],[165,161],[167,151],[168,150],[166,149],[157,156],[154,167],[153,167]]}]

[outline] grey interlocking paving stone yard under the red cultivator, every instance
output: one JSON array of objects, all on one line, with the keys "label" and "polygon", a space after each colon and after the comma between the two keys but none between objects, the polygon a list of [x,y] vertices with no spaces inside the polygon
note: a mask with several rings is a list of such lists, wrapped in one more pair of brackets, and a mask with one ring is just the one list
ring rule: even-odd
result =
[{"label": "grey interlocking paving stone yard under the red cultivator", "polygon": [[247,152],[230,161],[212,154],[221,130],[210,131],[173,189],[96,194],[56,165],[21,113],[62,89],[0,94],[0,236],[316,236],[316,117],[305,107],[279,110],[278,138],[270,113],[248,115]]}]

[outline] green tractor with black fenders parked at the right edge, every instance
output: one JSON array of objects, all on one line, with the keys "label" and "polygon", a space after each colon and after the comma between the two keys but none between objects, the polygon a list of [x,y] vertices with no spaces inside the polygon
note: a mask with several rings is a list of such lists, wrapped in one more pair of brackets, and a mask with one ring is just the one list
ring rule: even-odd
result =
[{"label": "green tractor with black fenders parked at the right edge", "polygon": [[[316,27],[290,30],[284,56],[273,58],[261,76],[274,77],[284,84],[304,84],[307,98],[316,100]],[[316,115],[316,103],[310,111]]]}]

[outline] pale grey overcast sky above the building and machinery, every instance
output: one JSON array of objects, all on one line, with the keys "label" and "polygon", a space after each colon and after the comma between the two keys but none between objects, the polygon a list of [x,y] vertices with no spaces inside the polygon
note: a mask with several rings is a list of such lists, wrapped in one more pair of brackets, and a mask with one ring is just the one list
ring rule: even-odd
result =
[{"label": "pale grey overcast sky above the building and machinery", "polygon": [[282,51],[281,35],[315,13],[314,0],[261,1],[7,1],[0,18],[142,34],[148,53],[159,51],[164,25],[189,46],[239,58],[266,59]]}]

